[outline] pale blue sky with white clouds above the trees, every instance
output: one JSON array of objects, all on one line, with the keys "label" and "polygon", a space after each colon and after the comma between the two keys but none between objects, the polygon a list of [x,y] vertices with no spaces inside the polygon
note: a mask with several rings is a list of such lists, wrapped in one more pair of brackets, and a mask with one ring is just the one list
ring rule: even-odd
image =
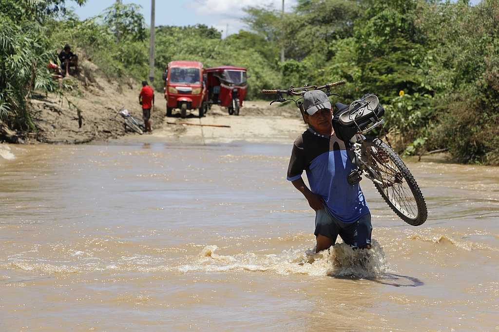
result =
[{"label": "pale blue sky with white clouds above the trees", "polygon": [[[81,7],[72,0],[66,4],[73,7],[80,19],[85,19],[100,14],[115,1],[87,0]],[[122,0],[122,3],[142,6],[140,12],[144,15],[146,24],[151,24],[151,0]],[[227,32],[229,35],[238,33],[245,27],[240,21],[245,15],[242,10],[244,7],[266,5],[273,5],[280,10],[282,0],[156,0],[155,25],[186,26],[201,23],[222,31],[222,37],[225,38]],[[284,0],[285,11],[291,11],[294,5],[296,0]]]}]

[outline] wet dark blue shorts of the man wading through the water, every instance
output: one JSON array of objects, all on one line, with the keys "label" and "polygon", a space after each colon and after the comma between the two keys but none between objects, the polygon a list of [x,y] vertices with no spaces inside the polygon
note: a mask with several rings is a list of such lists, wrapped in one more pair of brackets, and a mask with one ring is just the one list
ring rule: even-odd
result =
[{"label": "wet dark blue shorts of the man wading through the water", "polygon": [[332,238],[336,242],[338,235],[343,242],[352,247],[362,247],[371,244],[371,214],[368,213],[358,221],[343,222],[331,216],[326,208],[315,212],[315,236],[320,234]]}]

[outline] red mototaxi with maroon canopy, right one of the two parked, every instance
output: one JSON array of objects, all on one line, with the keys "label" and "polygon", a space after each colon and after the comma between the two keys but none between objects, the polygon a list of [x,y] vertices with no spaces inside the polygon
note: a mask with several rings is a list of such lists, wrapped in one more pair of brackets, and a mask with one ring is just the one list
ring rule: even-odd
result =
[{"label": "red mototaxi with maroon canopy, right one of the two parked", "polygon": [[220,66],[206,69],[208,107],[227,107],[229,114],[239,115],[248,90],[246,68]]}]

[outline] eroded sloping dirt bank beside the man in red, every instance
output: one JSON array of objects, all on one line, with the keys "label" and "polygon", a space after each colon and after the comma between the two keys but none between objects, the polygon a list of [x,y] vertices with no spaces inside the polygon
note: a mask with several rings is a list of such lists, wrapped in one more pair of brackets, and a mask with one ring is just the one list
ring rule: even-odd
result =
[{"label": "eroded sloping dirt bank beside the man in red", "polygon": [[[28,141],[78,144],[118,138],[127,134],[123,119],[116,116],[122,107],[141,120],[139,81],[129,78],[118,83],[99,76],[98,68],[88,61],[80,67],[81,72],[71,78],[76,88],[64,98],[49,94],[31,101],[30,115],[38,132],[30,134]],[[158,93],[156,97],[160,97]],[[161,123],[165,105],[157,103],[155,107],[152,120]]]}]

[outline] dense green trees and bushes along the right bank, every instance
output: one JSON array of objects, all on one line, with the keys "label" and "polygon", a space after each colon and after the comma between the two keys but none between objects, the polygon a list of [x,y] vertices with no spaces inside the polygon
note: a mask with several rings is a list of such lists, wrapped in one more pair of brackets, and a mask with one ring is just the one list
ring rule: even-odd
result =
[{"label": "dense green trees and bushes along the right bank", "polygon": [[285,45],[286,85],[346,79],[340,101],[378,95],[399,151],[448,148],[463,162],[498,164],[498,8],[498,0],[298,0],[283,38],[277,11],[248,9],[247,22]]}]

